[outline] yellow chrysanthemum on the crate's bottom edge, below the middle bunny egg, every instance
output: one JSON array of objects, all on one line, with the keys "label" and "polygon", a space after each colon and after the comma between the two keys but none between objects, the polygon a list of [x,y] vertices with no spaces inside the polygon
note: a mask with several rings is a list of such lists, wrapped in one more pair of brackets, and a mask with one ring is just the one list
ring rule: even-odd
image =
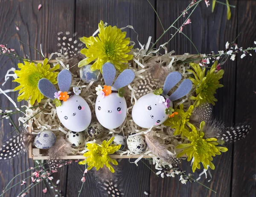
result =
[{"label": "yellow chrysanthemum on the crate's bottom edge, below the middle bunny egg", "polygon": [[[101,145],[96,143],[87,143],[87,152],[84,153],[84,157],[86,157],[86,161],[80,161],[79,164],[85,165],[87,163],[88,170],[96,167],[96,170],[103,168],[105,165],[111,172],[115,172],[110,163],[117,165],[117,161],[111,159],[108,155],[113,154],[117,150],[121,148],[121,144],[116,146],[115,144],[111,144],[114,138],[111,138],[109,141],[103,141]],[[111,145],[110,145],[111,144]]]}]

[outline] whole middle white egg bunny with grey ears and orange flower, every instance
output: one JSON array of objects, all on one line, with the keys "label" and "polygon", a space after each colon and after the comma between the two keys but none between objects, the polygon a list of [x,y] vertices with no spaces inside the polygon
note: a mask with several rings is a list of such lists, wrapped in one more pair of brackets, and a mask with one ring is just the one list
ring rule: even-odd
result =
[{"label": "whole middle white egg bunny with grey ears and orange flower", "polygon": [[125,121],[126,117],[127,104],[122,87],[130,84],[135,74],[132,70],[126,69],[113,84],[116,69],[111,63],[105,63],[102,66],[102,76],[106,85],[104,89],[100,86],[96,87],[98,95],[95,104],[96,117],[103,127],[115,129]]}]

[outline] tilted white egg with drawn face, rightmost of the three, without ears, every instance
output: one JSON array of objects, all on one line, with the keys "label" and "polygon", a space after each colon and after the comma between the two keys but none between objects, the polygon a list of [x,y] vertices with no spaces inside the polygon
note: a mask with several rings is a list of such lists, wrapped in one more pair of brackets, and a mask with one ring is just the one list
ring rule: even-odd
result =
[{"label": "tilted white egg with drawn face, rightmost of the three, without ears", "polygon": [[[150,128],[158,126],[167,120],[169,115],[165,113],[166,105],[159,103],[159,97],[154,93],[149,93],[137,100],[132,108],[132,119],[140,127]],[[172,102],[170,102],[172,107]]]}]

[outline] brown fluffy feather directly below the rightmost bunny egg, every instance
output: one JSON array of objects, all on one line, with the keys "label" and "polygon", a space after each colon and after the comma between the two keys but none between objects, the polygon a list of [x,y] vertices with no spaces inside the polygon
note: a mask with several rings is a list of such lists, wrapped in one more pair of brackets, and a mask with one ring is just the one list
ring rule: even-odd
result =
[{"label": "brown fluffy feather directly below the rightmost bunny egg", "polygon": [[167,163],[174,163],[176,165],[180,163],[179,159],[170,154],[171,152],[166,148],[166,145],[162,142],[162,139],[155,136],[153,132],[148,132],[145,135],[145,140],[153,155]]}]

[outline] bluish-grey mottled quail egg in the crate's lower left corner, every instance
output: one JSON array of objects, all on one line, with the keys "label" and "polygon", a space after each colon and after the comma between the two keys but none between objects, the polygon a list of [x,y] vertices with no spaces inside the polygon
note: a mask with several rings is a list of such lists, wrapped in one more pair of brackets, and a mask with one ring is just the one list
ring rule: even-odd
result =
[{"label": "bluish-grey mottled quail egg in the crate's lower left corner", "polygon": [[49,149],[55,144],[56,136],[52,131],[42,131],[35,136],[34,144],[38,149]]}]

